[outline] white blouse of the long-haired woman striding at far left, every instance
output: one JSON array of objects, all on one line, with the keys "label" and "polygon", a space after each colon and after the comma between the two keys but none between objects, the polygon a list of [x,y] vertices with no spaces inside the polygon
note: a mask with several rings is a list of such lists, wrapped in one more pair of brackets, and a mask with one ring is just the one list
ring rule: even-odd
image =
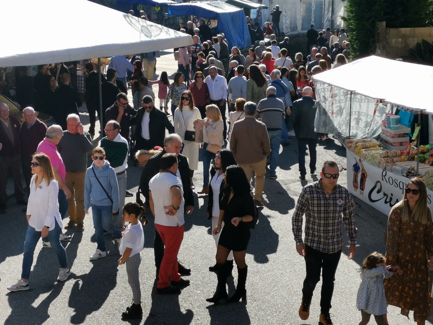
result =
[{"label": "white blouse of the long-haired woman striding at far left", "polygon": [[58,183],[54,179],[47,185],[45,179],[36,187],[36,175],[30,181],[29,203],[27,204],[27,215],[30,215],[29,225],[36,231],[42,231],[44,226],[50,227],[52,231],[55,221],[63,228],[63,222],[58,211]]}]

